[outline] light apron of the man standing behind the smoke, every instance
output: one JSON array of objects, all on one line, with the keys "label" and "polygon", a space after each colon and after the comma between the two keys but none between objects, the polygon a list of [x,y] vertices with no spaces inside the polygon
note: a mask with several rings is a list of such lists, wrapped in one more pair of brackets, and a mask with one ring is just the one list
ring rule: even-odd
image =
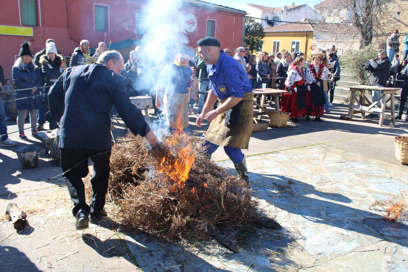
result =
[{"label": "light apron of the man standing behind the smoke", "polygon": [[[163,97],[167,126],[179,129],[188,126],[188,93],[165,93]],[[177,121],[178,119],[178,121]]]}]

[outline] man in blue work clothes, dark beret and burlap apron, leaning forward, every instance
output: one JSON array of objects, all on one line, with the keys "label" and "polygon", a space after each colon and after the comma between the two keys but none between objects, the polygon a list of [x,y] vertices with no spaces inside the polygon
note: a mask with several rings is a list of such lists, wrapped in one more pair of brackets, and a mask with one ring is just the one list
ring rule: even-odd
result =
[{"label": "man in blue work clothes, dark beret and burlap apron, leaning forward", "polygon": [[[246,161],[241,149],[248,149],[253,127],[251,83],[240,64],[220,50],[218,40],[205,37],[197,45],[200,57],[207,64],[211,89],[196,121],[198,127],[202,126],[204,118],[210,122],[203,134],[207,157],[211,158],[218,146],[224,146],[238,174],[248,182]],[[221,106],[212,110],[217,99]]]}]

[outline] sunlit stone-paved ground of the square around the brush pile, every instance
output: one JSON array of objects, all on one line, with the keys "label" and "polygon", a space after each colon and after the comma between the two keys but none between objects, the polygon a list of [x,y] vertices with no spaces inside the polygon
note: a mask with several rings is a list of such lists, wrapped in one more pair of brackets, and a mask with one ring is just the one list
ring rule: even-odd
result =
[{"label": "sunlit stone-paved ground of the square around the brush pile", "polygon": [[[338,118],[345,111],[337,105],[324,123],[253,133],[246,151],[250,187],[259,207],[283,228],[231,230],[237,254],[214,241],[167,243],[114,218],[78,232],[64,184],[60,177],[48,179],[61,170],[47,162],[44,149],[32,170],[20,169],[15,148],[0,149],[0,210],[16,202],[29,214],[21,232],[0,218],[0,270],[407,271],[408,223],[385,222],[369,206],[408,189],[408,168],[393,149],[393,137],[408,135],[408,125],[346,122]],[[118,127],[114,135],[121,134]],[[16,138],[11,135],[19,146],[40,144]],[[227,159],[221,148],[214,158]],[[232,168],[231,161],[218,163]]]}]

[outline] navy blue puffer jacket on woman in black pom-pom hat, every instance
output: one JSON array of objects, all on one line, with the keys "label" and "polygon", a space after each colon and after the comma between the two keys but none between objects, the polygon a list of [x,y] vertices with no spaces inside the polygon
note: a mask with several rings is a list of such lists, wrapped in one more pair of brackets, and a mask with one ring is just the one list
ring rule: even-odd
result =
[{"label": "navy blue puffer jacket on woman in black pom-pom hat", "polygon": [[[30,64],[29,64],[30,65]],[[40,69],[27,69],[20,70],[13,66],[12,77],[14,80],[14,87],[16,87],[16,98],[28,97],[26,99],[16,100],[16,107],[18,110],[38,110],[42,104],[42,89],[37,89],[35,93],[31,93],[31,89],[27,91],[17,91],[18,89],[26,89],[41,87],[44,85],[44,80],[40,75]],[[38,95],[38,96],[35,96]],[[35,97],[34,97],[35,96]]]}]

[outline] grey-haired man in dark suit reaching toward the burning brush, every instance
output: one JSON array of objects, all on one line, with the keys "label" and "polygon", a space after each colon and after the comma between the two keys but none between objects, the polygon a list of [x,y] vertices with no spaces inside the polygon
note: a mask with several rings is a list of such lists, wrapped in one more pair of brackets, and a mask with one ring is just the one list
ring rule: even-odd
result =
[{"label": "grey-haired man in dark suit reaching toward the burning brush", "polygon": [[[73,215],[78,230],[97,222],[104,215],[108,190],[111,133],[109,112],[113,105],[129,128],[154,145],[156,136],[144,121],[141,111],[131,104],[124,78],[119,75],[123,58],[118,51],[106,51],[96,64],[65,69],[51,87],[50,122],[60,121],[61,168],[74,203]],[[89,206],[85,201],[82,178],[88,174],[88,158],[93,161],[91,179],[93,195]]]}]

